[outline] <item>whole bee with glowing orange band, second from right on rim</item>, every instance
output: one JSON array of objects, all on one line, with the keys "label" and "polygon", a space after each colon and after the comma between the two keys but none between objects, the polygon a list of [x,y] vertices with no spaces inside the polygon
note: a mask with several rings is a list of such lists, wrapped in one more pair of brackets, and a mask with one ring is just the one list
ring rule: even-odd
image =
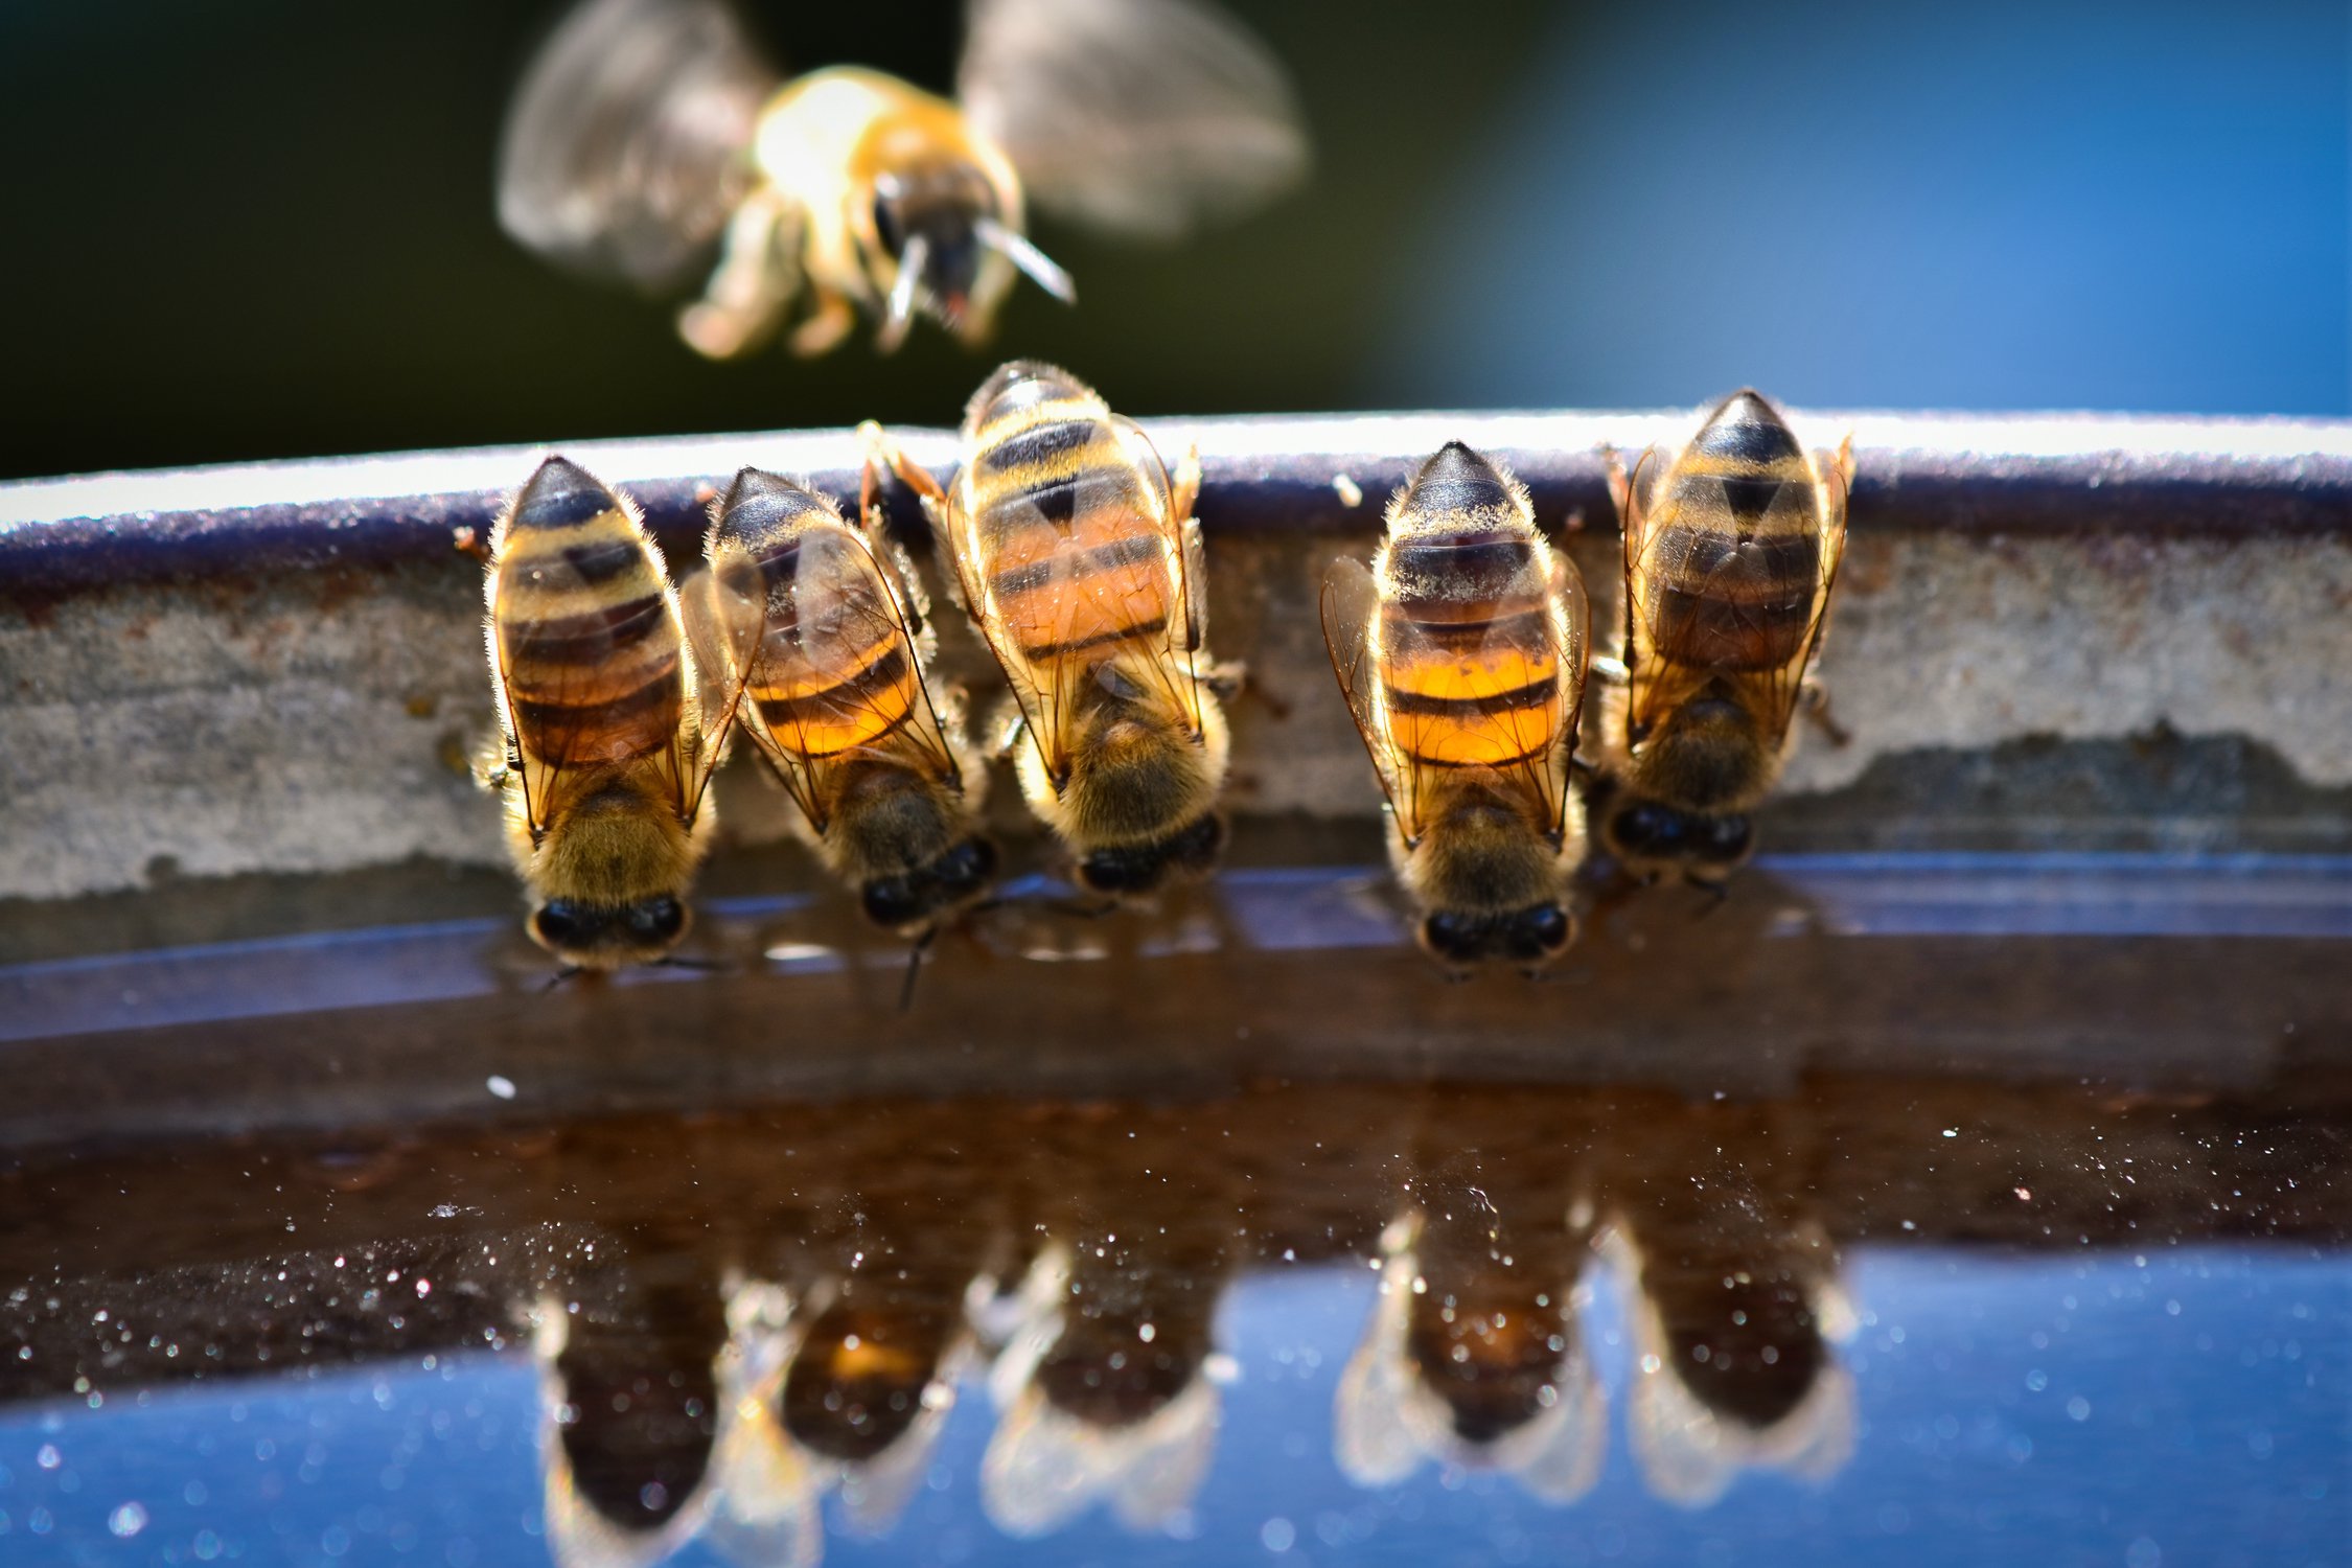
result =
[{"label": "whole bee with glowing orange band, second from right on rim", "polygon": [[1371,569],[1334,562],[1322,618],[1421,947],[1454,973],[1536,973],[1576,940],[1569,762],[1590,616],[1573,562],[1510,473],[1449,442],[1390,498]]}]

